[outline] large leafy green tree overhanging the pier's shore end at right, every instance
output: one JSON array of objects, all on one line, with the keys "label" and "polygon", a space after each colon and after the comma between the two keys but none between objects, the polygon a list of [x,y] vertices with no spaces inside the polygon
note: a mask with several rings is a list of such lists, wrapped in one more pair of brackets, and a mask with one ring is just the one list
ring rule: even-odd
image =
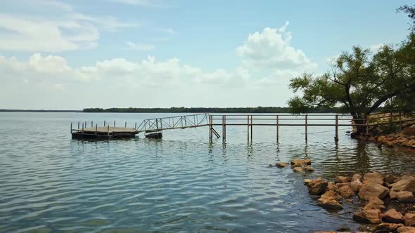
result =
[{"label": "large leafy green tree overhanging the pier's shore end at right", "polygon": [[[415,25],[414,7],[402,6]],[[397,46],[383,46],[374,54],[358,46],[343,52],[322,75],[303,74],[290,80],[295,93],[288,100],[293,113],[308,112],[310,107],[340,107],[349,112],[355,124],[364,124],[366,116],[388,103],[394,107],[414,109],[415,36],[414,25],[408,39]],[[401,106],[398,106],[397,103]],[[363,134],[357,126],[355,134]]]}]

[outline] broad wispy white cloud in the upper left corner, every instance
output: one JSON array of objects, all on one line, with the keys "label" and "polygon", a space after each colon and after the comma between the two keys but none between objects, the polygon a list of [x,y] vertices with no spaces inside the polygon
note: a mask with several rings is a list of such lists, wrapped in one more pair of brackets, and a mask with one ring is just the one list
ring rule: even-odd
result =
[{"label": "broad wispy white cloud in the upper left corner", "polygon": [[[114,31],[138,26],[119,22],[111,16],[93,17],[77,13],[71,6],[59,1],[39,1],[39,4],[52,13],[27,13],[27,9],[25,14],[0,13],[0,51],[56,53],[94,48],[98,44],[100,30]],[[39,7],[32,2],[26,2],[26,5]],[[23,3],[18,1],[16,6],[23,6]]]}]

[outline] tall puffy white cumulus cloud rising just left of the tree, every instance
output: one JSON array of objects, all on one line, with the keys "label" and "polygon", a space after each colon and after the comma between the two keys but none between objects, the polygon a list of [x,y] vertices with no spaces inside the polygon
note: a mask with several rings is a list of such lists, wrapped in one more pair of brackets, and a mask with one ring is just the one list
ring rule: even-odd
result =
[{"label": "tall puffy white cumulus cloud rising just left of the tree", "polygon": [[[245,65],[271,69],[314,69],[300,49],[290,46],[291,32],[286,32],[288,22],[283,27],[266,27],[262,32],[249,34],[248,40],[236,49]],[[282,34],[284,33],[284,34]]]}]

